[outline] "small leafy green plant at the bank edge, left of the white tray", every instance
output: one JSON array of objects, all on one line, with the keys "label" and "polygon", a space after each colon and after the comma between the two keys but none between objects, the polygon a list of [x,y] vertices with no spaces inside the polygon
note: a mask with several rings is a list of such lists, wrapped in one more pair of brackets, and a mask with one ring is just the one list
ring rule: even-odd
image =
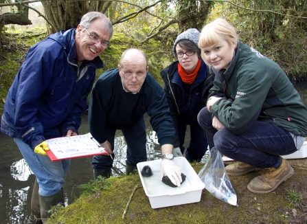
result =
[{"label": "small leafy green plant at the bank edge, left of the white tray", "polygon": [[95,194],[100,190],[110,190],[111,181],[109,179],[105,179],[102,176],[98,176],[98,178],[93,181],[89,181],[89,183],[84,183],[78,188],[83,189],[81,197],[87,196],[89,194]]}]

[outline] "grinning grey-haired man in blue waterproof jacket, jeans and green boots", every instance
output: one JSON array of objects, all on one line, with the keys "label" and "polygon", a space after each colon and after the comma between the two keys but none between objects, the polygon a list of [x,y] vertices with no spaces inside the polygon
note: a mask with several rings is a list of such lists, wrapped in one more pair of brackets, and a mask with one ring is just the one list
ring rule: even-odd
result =
[{"label": "grinning grey-haired man in blue waterproof jacket, jeans and green boots", "polygon": [[45,139],[78,135],[95,71],[103,67],[99,55],[112,35],[104,14],[84,14],[76,29],[52,34],[30,48],[8,91],[1,131],[13,137],[36,176],[30,223],[45,223],[51,206],[64,202],[70,160],[52,162]]}]

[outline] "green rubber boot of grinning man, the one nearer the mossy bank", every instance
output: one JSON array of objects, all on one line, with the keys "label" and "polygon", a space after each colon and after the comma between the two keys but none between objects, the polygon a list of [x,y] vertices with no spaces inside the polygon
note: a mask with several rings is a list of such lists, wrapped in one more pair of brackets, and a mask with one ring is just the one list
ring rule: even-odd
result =
[{"label": "green rubber boot of grinning man, the one nearer the mossy bank", "polygon": [[41,219],[43,223],[46,223],[49,217],[51,216],[48,211],[52,208],[52,206],[57,205],[58,203],[62,203],[64,205],[64,194],[63,190],[57,192],[56,194],[43,196],[38,194],[39,204],[41,205]]}]

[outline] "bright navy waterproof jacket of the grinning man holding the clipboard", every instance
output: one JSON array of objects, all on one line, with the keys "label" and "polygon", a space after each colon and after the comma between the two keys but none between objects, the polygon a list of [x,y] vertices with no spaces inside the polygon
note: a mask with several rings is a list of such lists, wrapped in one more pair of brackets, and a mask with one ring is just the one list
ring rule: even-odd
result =
[{"label": "bright navy waterproof jacket of the grinning man holding the clipboard", "polygon": [[32,149],[69,129],[78,133],[95,71],[103,67],[99,57],[78,67],[75,34],[61,31],[30,47],[8,91],[1,131]]}]

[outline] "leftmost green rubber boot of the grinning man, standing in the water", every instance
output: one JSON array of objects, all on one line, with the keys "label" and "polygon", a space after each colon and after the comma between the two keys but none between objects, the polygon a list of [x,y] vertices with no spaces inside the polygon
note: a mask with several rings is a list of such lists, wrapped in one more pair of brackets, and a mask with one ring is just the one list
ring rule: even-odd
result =
[{"label": "leftmost green rubber boot of the grinning man, standing in the water", "polygon": [[41,210],[39,206],[39,198],[38,198],[38,183],[37,179],[34,181],[34,187],[31,198],[31,214],[29,217],[29,223],[27,224],[38,224],[43,223],[41,221]]}]

